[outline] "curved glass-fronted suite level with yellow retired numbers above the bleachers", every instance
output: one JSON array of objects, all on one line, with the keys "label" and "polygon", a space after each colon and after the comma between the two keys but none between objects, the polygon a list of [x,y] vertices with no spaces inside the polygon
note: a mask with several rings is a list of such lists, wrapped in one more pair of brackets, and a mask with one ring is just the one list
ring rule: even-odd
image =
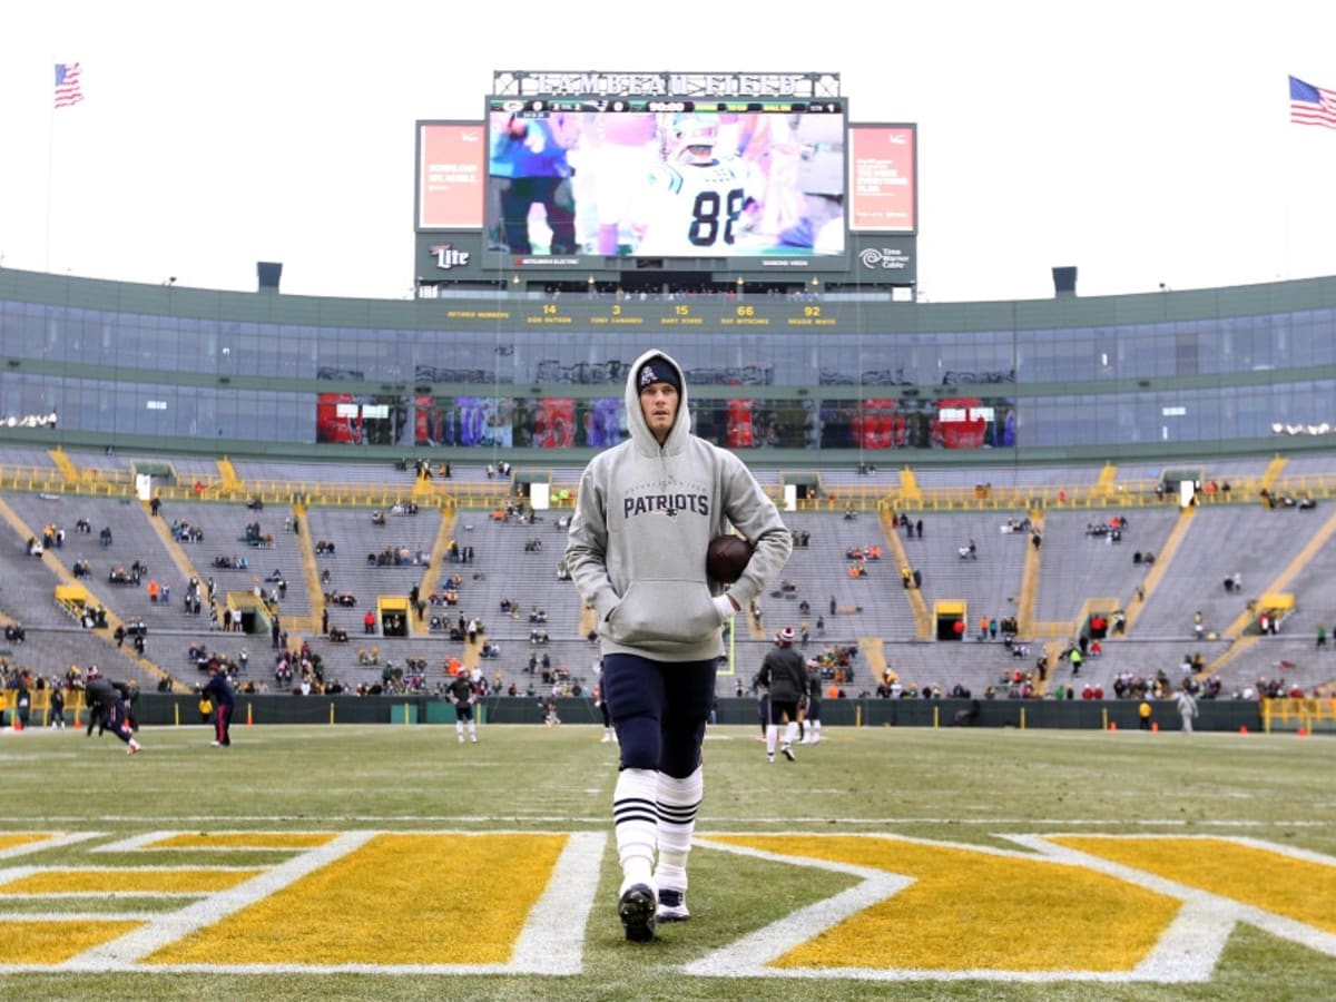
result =
[{"label": "curved glass-fronted suite level with yellow retired numbers above the bleachers", "polygon": [[688,370],[697,433],[776,464],[1271,452],[1281,436],[1293,450],[1336,422],[1336,279],[959,305],[382,302],[5,270],[0,426],[234,456],[582,462],[624,433],[625,370],[648,347]]}]

